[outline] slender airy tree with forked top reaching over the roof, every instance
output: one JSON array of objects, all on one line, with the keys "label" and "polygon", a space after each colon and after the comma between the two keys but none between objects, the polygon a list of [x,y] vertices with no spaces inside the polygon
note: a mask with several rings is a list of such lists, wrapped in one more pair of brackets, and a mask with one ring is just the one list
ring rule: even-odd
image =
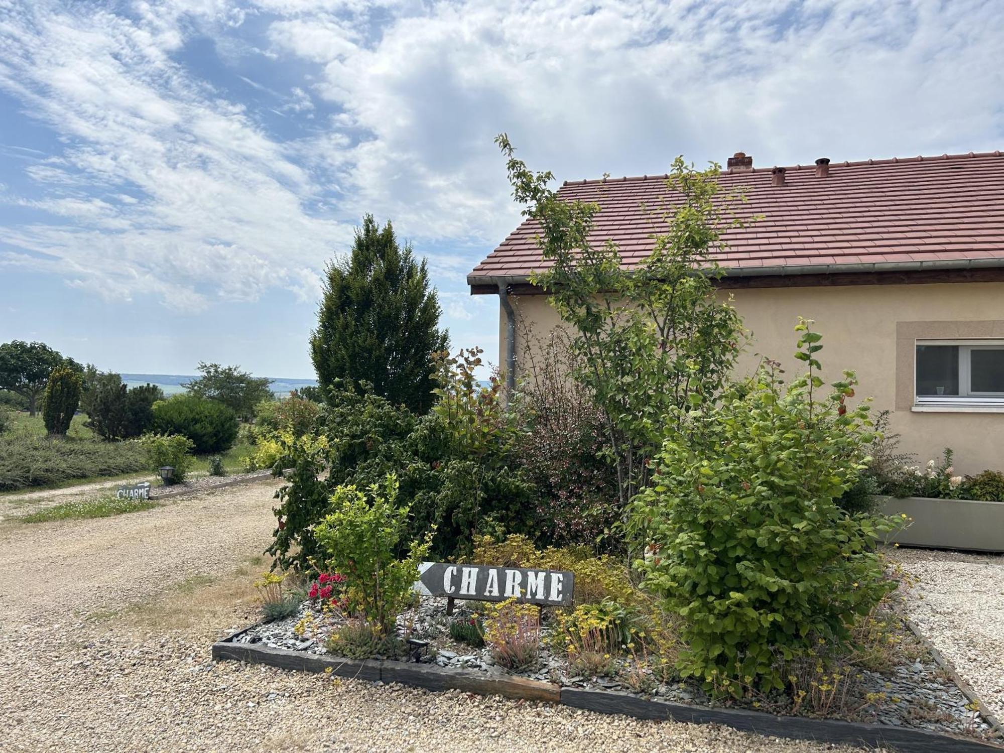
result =
[{"label": "slender airy tree with forked top reaching over the roof", "polygon": [[[616,466],[621,509],[650,481],[650,461],[662,445],[674,409],[713,402],[726,386],[743,336],[729,300],[716,295],[720,250],[734,197],[720,198],[717,166],[695,171],[678,158],[667,181],[667,203],[652,218],[665,232],[633,268],[611,241],[593,237],[599,205],[565,201],[517,160],[509,140],[509,181],[523,215],[538,225],[546,272],[532,277],[574,327],[573,376],[585,386],[605,421]],[[601,188],[599,190],[602,190]]]}]

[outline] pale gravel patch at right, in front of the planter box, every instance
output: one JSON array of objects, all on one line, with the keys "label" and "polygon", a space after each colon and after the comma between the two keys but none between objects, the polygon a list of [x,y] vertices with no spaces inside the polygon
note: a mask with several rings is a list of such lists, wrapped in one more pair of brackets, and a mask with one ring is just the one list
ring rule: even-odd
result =
[{"label": "pale gravel patch at right, in front of the planter box", "polygon": [[1004,719],[1004,557],[906,548],[896,556],[918,581],[911,617]]}]

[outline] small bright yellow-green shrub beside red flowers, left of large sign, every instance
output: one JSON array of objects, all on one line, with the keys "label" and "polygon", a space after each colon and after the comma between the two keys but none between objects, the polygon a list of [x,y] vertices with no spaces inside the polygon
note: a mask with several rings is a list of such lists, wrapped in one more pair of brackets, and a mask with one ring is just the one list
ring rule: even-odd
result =
[{"label": "small bright yellow-green shrub beside red flowers, left of large sign", "polygon": [[409,514],[408,505],[398,506],[397,500],[394,475],[383,485],[369,487],[368,495],[353,486],[339,486],[331,497],[330,513],[316,530],[324,556],[322,569],[345,576],[349,609],[384,635],[393,633],[398,614],[415,600],[412,585],[429,551],[428,541],[413,541],[408,555],[397,557],[405,544]]}]

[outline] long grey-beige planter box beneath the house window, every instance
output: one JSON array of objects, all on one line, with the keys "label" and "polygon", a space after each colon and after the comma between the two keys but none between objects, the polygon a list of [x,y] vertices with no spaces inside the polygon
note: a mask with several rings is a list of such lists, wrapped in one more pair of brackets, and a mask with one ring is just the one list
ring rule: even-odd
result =
[{"label": "long grey-beige planter box beneath the house window", "polygon": [[931,497],[880,497],[887,515],[906,513],[909,528],[890,541],[907,546],[1004,552],[1004,502]]}]

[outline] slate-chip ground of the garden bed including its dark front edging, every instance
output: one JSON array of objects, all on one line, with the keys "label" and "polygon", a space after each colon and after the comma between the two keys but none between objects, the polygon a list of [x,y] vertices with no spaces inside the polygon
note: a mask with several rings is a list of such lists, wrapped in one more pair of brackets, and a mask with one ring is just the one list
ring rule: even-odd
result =
[{"label": "slate-chip ground of the garden bed including its dark front edging", "polygon": [[[818,715],[790,716],[791,705],[781,698],[722,703],[711,701],[693,683],[659,682],[655,678],[640,683],[637,677],[628,679],[630,660],[623,657],[613,659],[608,676],[585,677],[569,665],[566,655],[548,648],[548,633],[553,626],[546,619],[539,661],[529,669],[510,673],[495,663],[489,649],[452,640],[450,622],[464,619],[472,611],[472,604],[458,603],[455,614],[449,616],[446,599],[423,597],[419,606],[399,618],[399,626],[410,625],[409,636],[428,642],[428,647],[411,647],[405,661],[380,656],[350,660],[332,655],[326,646],[327,638],[340,626],[339,617],[321,617],[306,601],[290,617],[252,625],[216,644],[213,656],[434,690],[461,688],[544,700],[648,719],[716,722],[785,737],[899,745],[909,750],[1002,749],[989,742],[999,739],[992,720],[974,710],[976,705],[953,682],[951,668],[940,665],[919,642],[919,657],[912,664],[884,673],[860,671],[851,697],[839,710],[831,709],[830,718],[823,719]],[[916,642],[906,625],[902,640]]]}]

